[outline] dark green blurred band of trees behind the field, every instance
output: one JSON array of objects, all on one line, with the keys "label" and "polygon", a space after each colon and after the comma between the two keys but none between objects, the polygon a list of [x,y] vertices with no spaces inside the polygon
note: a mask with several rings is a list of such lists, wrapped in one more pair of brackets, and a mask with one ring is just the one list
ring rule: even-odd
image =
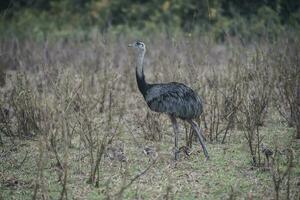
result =
[{"label": "dark green blurred band of trees behind the field", "polygon": [[228,35],[244,42],[260,37],[276,39],[300,27],[300,3],[285,1],[236,0],[5,0],[0,4],[3,34],[48,36],[49,32],[69,35],[97,27],[168,33],[209,32],[223,41]]}]

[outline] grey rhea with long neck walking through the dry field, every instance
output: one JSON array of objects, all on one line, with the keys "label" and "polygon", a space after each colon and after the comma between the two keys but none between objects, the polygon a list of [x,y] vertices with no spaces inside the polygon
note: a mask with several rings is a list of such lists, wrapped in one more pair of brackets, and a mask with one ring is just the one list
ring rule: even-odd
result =
[{"label": "grey rhea with long neck walking through the dry field", "polygon": [[191,88],[182,83],[150,84],[145,80],[143,62],[146,46],[141,41],[129,44],[136,52],[136,80],[147,105],[152,111],[169,115],[175,134],[175,160],[178,160],[178,137],[179,129],[176,118],[187,121],[197,133],[200,145],[206,159],[209,158],[206,150],[201,129],[194,122],[203,112],[200,97]]}]

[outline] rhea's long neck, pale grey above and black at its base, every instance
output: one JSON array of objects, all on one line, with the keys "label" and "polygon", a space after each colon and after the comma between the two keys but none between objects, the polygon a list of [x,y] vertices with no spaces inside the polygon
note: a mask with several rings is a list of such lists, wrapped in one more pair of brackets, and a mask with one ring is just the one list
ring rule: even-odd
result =
[{"label": "rhea's long neck, pale grey above and black at its base", "polygon": [[146,50],[138,51],[137,61],[136,61],[136,81],[138,84],[138,88],[144,97],[149,87],[149,84],[145,81],[144,68],[143,68],[145,53]]}]

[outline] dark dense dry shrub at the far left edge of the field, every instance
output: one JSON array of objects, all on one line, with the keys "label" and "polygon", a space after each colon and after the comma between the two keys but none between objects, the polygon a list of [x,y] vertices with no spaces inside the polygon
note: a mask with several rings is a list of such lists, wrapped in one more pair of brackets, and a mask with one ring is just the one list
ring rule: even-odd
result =
[{"label": "dark dense dry shrub at the far left edge of the field", "polygon": [[41,108],[25,73],[18,73],[12,88],[1,98],[0,131],[11,138],[30,139],[40,133]]}]

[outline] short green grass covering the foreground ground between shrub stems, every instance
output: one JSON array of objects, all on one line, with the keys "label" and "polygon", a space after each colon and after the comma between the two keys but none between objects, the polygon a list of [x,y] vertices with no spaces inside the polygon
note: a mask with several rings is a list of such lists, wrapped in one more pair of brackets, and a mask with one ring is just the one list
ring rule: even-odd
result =
[{"label": "short green grass covering the foreground ground between shrub stems", "polygon": [[[280,130],[280,131],[279,131]],[[171,131],[165,130],[165,131]],[[289,138],[286,134],[289,129],[282,126],[263,128],[263,134],[269,138],[281,138],[279,145],[288,145]],[[232,134],[238,134],[232,133]],[[125,144],[125,152],[128,158],[122,167],[118,161],[111,162],[104,159],[101,163],[100,186],[98,188],[86,183],[88,178],[88,160],[76,161],[78,149],[70,151],[68,195],[70,199],[103,199],[105,192],[114,194],[121,187],[122,182],[143,170],[149,163],[149,159],[142,154],[142,149],[135,144],[124,132],[120,140]],[[241,136],[236,136],[241,137]],[[238,199],[247,199],[249,195],[255,199],[269,199],[273,195],[272,177],[269,171],[252,168],[249,155],[244,143],[207,144],[210,160],[204,161],[202,152],[195,149],[190,157],[181,155],[178,162],[173,160],[170,136],[165,136],[163,141],[153,143],[159,149],[157,163],[144,176],[134,182],[125,190],[125,199],[163,198],[170,189],[170,197],[174,199],[227,199],[232,195]],[[184,138],[181,137],[181,142]],[[143,138],[138,138],[143,141]],[[299,144],[295,150],[299,155]],[[75,144],[76,146],[76,144]],[[24,158],[24,152],[28,152],[28,158],[21,168],[17,168],[20,160]],[[4,153],[8,153],[3,157]],[[47,165],[45,165],[44,177],[47,193],[51,199],[60,196],[60,185],[57,182],[54,158],[48,153]],[[35,141],[19,141],[17,145],[5,145],[2,148],[1,162],[1,194],[2,199],[31,199],[34,180],[36,177],[36,159],[38,158]],[[298,156],[295,156],[298,158]],[[292,173],[292,179],[299,178],[299,158]],[[18,183],[13,183],[18,181]],[[8,185],[12,182],[12,185]]]}]

